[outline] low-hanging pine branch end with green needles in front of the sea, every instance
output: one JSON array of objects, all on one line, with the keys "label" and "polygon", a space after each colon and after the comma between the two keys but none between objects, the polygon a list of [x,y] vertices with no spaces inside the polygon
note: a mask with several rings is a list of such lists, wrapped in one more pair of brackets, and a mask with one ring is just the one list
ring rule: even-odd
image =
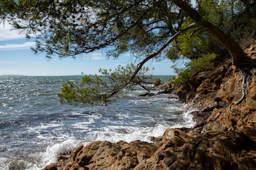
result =
[{"label": "low-hanging pine branch end with green needles in front of the sea", "polygon": [[[58,93],[60,103],[71,105],[91,104],[107,105],[118,99],[118,95],[126,88],[134,88],[137,85],[143,86],[152,76],[145,76],[150,68],[143,67],[131,79],[136,66],[134,64],[119,65],[114,71],[111,69],[99,69],[101,76],[84,76],[81,82],[71,82],[62,84],[61,92]],[[143,86],[144,88],[144,86]]]}]

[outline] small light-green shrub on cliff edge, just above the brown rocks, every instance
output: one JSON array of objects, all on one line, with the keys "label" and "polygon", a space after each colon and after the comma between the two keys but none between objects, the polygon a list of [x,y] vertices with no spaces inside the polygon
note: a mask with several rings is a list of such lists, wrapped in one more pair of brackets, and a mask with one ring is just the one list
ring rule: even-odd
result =
[{"label": "small light-green shrub on cliff edge, just above the brown rocks", "polygon": [[207,54],[204,57],[198,59],[192,59],[190,62],[185,64],[185,68],[177,68],[175,72],[178,74],[177,77],[173,78],[173,81],[177,84],[184,84],[189,81],[191,76],[193,76],[198,71],[207,71],[214,68],[212,61],[216,59],[216,54]]}]

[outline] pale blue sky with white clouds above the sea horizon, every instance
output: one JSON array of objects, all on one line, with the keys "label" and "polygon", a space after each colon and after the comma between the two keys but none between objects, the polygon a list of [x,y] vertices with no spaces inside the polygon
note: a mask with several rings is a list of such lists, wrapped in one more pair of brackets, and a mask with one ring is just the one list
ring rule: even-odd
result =
[{"label": "pale blue sky with white clouds above the sea horizon", "polygon": [[[44,54],[34,55],[30,49],[35,42],[13,30],[8,24],[0,24],[0,75],[26,76],[65,76],[98,74],[99,68],[116,68],[118,65],[131,63],[129,54],[118,59],[107,59],[101,51],[89,54],[88,57],[76,59],[47,59]],[[169,61],[148,61],[148,66],[154,67],[153,75],[175,75]]]}]

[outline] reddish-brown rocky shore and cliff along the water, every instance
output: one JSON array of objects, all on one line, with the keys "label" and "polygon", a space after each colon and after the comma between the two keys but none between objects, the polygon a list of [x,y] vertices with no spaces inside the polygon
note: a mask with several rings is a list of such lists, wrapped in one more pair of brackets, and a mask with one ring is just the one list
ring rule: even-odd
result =
[{"label": "reddish-brown rocky shore and cliff along the water", "polygon": [[59,155],[44,170],[255,169],[256,69],[249,72],[246,95],[241,72],[230,59],[175,87],[186,109],[196,110],[191,129],[166,129],[152,143],[95,141]]}]

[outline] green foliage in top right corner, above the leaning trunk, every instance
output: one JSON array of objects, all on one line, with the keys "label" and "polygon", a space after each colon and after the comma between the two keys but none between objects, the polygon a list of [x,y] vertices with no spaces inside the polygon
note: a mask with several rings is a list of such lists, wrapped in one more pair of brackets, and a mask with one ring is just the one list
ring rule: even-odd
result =
[{"label": "green foliage in top right corner, above the leaning trunk", "polygon": [[241,0],[200,0],[200,13],[234,40],[255,39],[255,2]]}]

